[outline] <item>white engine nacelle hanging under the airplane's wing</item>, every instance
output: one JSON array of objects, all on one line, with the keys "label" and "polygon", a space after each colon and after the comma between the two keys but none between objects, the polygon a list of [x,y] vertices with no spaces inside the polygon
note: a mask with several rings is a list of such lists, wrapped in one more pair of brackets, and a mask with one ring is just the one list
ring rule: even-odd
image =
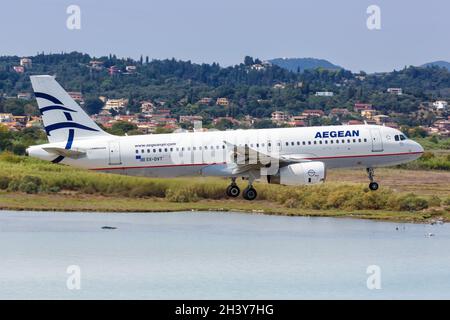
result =
[{"label": "white engine nacelle hanging under the airplane's wing", "polygon": [[267,176],[267,182],[286,186],[300,186],[324,182],[325,164],[320,161],[302,162],[280,168],[277,175]]}]

